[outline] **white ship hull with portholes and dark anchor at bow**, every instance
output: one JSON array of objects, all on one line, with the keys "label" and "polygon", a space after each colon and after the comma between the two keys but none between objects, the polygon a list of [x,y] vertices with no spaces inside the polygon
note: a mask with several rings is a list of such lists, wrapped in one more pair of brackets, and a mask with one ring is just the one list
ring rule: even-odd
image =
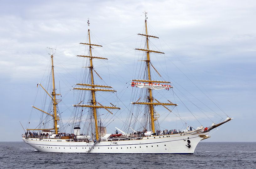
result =
[{"label": "white ship hull with portholes and dark anchor at bow", "polygon": [[[199,133],[202,134],[202,133]],[[172,134],[143,137],[141,140],[100,141],[91,149],[94,142],[72,142],[64,139],[23,138],[35,151],[59,153],[174,153],[193,154],[202,139],[199,134]],[[203,133],[208,135],[209,132]],[[190,141],[191,147],[187,147]]]}]

